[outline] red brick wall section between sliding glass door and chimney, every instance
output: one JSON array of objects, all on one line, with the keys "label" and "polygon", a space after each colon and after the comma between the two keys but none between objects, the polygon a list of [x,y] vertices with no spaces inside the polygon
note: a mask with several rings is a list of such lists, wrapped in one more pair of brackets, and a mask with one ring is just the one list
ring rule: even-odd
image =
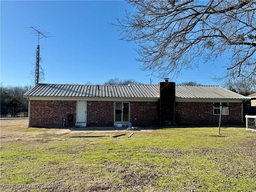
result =
[{"label": "red brick wall section between sliding glass door and chimney", "polygon": [[158,102],[130,102],[132,126],[153,126],[158,121]]}]

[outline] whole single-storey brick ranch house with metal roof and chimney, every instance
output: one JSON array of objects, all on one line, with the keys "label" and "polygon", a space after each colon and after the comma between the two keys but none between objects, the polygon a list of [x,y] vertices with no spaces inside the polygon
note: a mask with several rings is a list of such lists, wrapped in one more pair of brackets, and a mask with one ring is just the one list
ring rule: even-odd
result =
[{"label": "whole single-storey brick ranch house with metal roof and chimney", "polygon": [[37,84],[28,126],[157,126],[242,123],[246,97],[220,86]]}]

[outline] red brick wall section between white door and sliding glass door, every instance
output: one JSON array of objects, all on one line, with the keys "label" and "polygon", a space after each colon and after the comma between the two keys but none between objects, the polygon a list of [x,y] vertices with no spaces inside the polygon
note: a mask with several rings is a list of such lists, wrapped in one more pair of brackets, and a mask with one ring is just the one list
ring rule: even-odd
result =
[{"label": "red brick wall section between white door and sliding glass door", "polygon": [[114,101],[87,101],[87,126],[114,126]]}]

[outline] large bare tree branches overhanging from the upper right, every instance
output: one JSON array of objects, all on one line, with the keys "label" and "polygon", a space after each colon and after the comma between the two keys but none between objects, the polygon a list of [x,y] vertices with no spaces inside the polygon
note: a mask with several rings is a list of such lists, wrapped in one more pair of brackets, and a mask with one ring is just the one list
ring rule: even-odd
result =
[{"label": "large bare tree branches overhanging from the upper right", "polygon": [[231,54],[222,77],[256,74],[256,0],[127,1],[135,10],[112,24],[136,42],[144,70],[178,76]]}]

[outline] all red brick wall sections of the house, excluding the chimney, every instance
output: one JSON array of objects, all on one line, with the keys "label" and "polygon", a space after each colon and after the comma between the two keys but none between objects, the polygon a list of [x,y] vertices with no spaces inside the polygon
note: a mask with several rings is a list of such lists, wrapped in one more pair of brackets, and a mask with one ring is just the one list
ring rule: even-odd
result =
[{"label": "all red brick wall sections of the house, excluding the chimney", "polygon": [[[113,126],[114,101],[87,101],[88,126]],[[229,102],[229,115],[222,116],[223,124],[242,122],[242,104]],[[159,124],[158,102],[130,102],[132,126]],[[68,122],[68,114],[73,121]],[[29,126],[62,127],[76,123],[76,101],[30,100]],[[178,125],[216,125],[219,115],[213,115],[212,102],[176,102],[176,123]]]}]

